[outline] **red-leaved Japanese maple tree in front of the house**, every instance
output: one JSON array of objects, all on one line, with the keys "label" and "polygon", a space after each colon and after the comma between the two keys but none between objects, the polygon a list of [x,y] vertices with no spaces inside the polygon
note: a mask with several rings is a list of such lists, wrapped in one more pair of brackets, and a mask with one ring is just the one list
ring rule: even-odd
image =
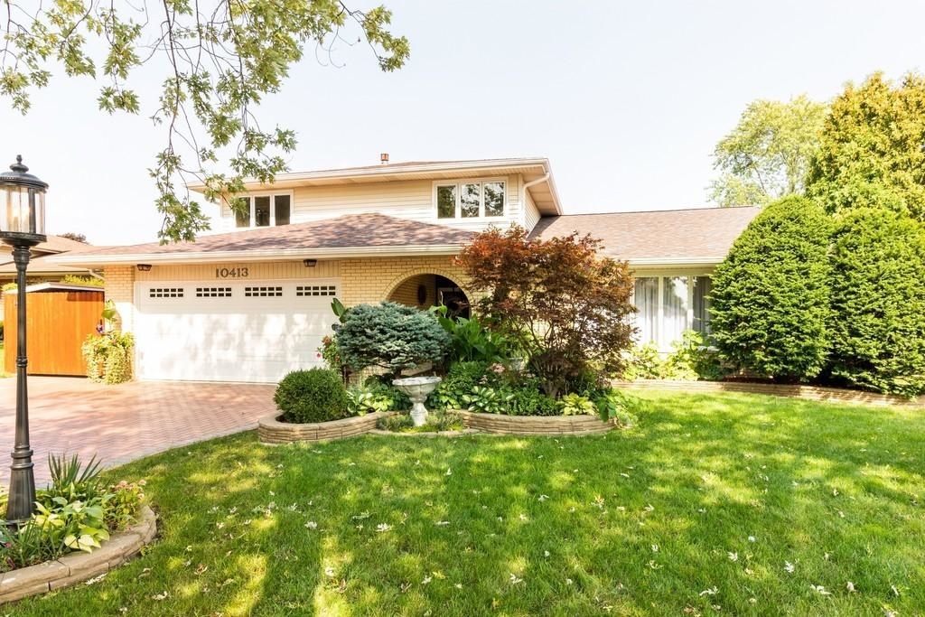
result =
[{"label": "red-leaved Japanese maple tree in front of the house", "polygon": [[632,344],[633,277],[599,246],[577,233],[531,240],[512,226],[477,234],[456,259],[483,295],[480,313],[524,344],[552,397],[588,371],[620,371]]}]

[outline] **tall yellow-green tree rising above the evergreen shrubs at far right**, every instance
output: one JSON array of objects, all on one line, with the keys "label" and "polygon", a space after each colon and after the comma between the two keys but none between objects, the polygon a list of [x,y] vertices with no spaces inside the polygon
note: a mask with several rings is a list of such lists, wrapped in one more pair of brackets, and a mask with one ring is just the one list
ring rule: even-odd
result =
[{"label": "tall yellow-green tree rising above the evergreen shrubs at far right", "polygon": [[874,73],[832,104],[807,190],[830,212],[882,206],[925,221],[925,78]]}]

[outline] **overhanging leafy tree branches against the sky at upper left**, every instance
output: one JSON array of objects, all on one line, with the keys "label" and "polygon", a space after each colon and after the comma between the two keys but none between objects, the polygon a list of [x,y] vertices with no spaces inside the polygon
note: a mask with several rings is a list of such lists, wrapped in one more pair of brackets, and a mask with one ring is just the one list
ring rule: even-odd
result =
[{"label": "overhanging leafy tree branches against the sky at upper left", "polygon": [[[242,189],[244,178],[272,181],[285,171],[281,156],[295,134],[263,128],[253,113],[276,93],[306,45],[330,51],[347,36],[365,40],[384,71],[401,68],[407,39],[391,34],[384,6],[361,11],[339,0],[6,0],[0,51],[0,95],[26,113],[31,91],[52,70],[100,78],[100,109],[138,114],[129,85],[137,68],[163,74],[151,113],[165,128],[166,146],[150,169],[162,241],[192,240],[208,228],[185,185],[205,185],[216,199]],[[359,34],[349,32],[351,29]],[[230,172],[217,169],[228,157]]]}]

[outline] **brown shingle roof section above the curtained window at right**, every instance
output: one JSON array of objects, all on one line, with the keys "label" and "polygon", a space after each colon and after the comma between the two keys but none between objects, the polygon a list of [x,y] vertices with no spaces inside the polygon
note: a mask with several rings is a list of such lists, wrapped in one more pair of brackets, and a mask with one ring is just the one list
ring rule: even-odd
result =
[{"label": "brown shingle roof section above the curtained window at right", "polygon": [[603,241],[602,253],[630,262],[719,262],[759,212],[758,207],[741,207],[549,216],[540,220],[531,237],[549,239],[578,231]]}]

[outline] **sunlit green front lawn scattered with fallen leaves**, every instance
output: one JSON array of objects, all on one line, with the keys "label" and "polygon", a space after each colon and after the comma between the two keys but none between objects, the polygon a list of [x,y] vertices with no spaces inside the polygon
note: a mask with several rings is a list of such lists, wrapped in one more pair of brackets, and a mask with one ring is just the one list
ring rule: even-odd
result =
[{"label": "sunlit green front lawn scattered with fallen leaves", "polygon": [[157,543],[6,611],[925,612],[925,414],[643,396],[639,426],[602,437],[247,433],[129,464],[113,477],[147,479]]}]

